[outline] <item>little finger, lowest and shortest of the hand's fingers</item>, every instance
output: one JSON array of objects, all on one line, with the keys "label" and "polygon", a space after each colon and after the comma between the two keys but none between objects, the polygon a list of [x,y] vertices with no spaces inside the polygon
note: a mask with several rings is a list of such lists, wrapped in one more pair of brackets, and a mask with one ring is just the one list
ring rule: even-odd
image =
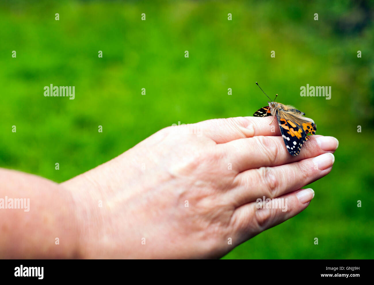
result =
[{"label": "little finger, lowest and shortest of the hand's fingers", "polygon": [[237,208],[232,215],[231,226],[238,233],[238,243],[299,214],[309,206],[313,197],[312,189],[300,189],[277,197],[277,201],[266,203],[265,208],[260,201]]}]

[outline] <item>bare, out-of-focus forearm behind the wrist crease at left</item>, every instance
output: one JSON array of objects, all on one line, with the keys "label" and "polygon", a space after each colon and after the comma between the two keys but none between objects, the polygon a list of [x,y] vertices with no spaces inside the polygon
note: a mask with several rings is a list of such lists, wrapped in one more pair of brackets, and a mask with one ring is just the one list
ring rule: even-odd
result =
[{"label": "bare, out-of-focus forearm behind the wrist crease at left", "polygon": [[75,208],[63,186],[0,169],[0,258],[79,258]]}]

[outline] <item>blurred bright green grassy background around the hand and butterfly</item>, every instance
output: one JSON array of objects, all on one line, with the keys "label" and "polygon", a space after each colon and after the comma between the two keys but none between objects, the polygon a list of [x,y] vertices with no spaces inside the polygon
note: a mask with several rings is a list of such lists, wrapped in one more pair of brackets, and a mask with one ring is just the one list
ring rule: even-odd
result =
[{"label": "blurred bright green grassy background around the hand and butterfly", "polygon": [[[267,105],[257,81],[340,144],[304,212],[224,258],[373,258],[373,10],[347,0],[2,1],[0,167],[68,180],[178,121],[252,116]],[[307,83],[331,86],[331,99],[301,97]],[[75,99],[43,96],[50,84],[76,86]]]}]

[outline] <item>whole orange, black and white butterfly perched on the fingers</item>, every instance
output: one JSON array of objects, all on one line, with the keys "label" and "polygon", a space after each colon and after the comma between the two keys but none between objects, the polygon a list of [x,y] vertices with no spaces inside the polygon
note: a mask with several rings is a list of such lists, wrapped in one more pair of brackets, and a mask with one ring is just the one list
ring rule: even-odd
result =
[{"label": "whole orange, black and white butterfly perched on the fingers", "polygon": [[[260,87],[257,82],[256,84],[258,87]],[[261,91],[264,92],[262,89]],[[265,92],[264,94],[266,95]],[[278,94],[275,96],[275,98],[277,96]],[[269,98],[269,96],[267,96],[267,98]],[[300,153],[304,142],[309,139],[307,134],[309,133],[314,135],[316,133],[316,124],[304,118],[303,115],[305,115],[305,113],[290,105],[283,105],[275,102],[274,100],[272,102],[267,101],[269,105],[257,110],[253,116],[273,116],[273,120],[276,116],[286,149],[292,156],[297,156]]]}]

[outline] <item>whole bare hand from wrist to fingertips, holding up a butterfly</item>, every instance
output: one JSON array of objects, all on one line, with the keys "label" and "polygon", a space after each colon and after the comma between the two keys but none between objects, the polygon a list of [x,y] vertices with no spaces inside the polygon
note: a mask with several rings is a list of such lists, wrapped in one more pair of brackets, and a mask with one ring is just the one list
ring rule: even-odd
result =
[{"label": "whole bare hand from wrist to fingertips, holding up a butterfly", "polygon": [[303,211],[314,191],[300,188],[331,171],[338,141],[310,136],[291,156],[271,120],[170,126],[62,183],[80,257],[217,258]]}]

